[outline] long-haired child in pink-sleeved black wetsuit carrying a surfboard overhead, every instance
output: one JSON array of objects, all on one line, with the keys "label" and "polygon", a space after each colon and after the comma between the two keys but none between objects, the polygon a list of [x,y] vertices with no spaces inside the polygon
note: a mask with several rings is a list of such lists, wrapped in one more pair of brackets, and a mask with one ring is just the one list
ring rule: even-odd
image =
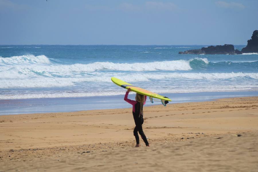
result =
[{"label": "long-haired child in pink-sleeved black wetsuit carrying a surfboard overhead", "polygon": [[143,124],[143,112],[142,112],[142,107],[145,104],[146,101],[146,95],[141,95],[136,93],[135,96],[135,100],[130,100],[127,98],[128,93],[131,91],[130,88],[128,88],[128,90],[126,91],[126,94],[124,95],[124,100],[127,101],[128,103],[130,103],[131,105],[133,105],[133,116],[134,116],[134,122],[135,122],[135,128],[134,128],[134,136],[136,139],[136,146],[135,147],[139,147],[139,136],[138,136],[138,132],[141,135],[142,140],[144,141],[144,143],[146,144],[146,146],[149,146],[148,140],[142,130],[142,124]]}]

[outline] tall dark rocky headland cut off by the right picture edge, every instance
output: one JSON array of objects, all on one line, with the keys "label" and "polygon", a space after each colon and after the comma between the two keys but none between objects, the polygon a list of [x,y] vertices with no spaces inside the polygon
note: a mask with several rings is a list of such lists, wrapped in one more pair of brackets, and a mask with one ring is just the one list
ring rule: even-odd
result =
[{"label": "tall dark rocky headland cut off by the right picture edge", "polygon": [[241,50],[242,53],[258,52],[258,30],[253,31],[253,36],[247,41],[247,46]]}]

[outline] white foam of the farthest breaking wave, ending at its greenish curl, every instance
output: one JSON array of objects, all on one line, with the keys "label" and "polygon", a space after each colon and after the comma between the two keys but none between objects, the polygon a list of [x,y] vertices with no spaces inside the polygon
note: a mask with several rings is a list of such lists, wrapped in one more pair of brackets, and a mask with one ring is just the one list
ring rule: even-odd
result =
[{"label": "white foam of the farthest breaking wave, ending at its greenish curl", "polygon": [[[6,71],[14,74],[16,71],[19,74],[29,74],[31,72],[38,73],[58,73],[67,74],[71,72],[94,72],[103,70],[112,71],[189,71],[191,70],[190,62],[200,60],[208,64],[207,58],[194,58],[191,60],[173,60],[173,61],[158,61],[146,63],[113,63],[113,62],[94,62],[90,64],[54,64],[44,56],[23,55],[3,58],[0,56],[1,71]],[[5,78],[8,76],[5,73]]]}]

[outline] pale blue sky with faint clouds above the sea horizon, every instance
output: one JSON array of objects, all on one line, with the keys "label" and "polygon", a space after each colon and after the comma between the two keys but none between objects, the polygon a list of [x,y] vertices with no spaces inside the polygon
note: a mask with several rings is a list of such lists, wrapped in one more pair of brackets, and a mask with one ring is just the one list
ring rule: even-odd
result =
[{"label": "pale blue sky with faint clouds above the sea horizon", "polygon": [[257,0],[0,0],[0,44],[246,45]]}]

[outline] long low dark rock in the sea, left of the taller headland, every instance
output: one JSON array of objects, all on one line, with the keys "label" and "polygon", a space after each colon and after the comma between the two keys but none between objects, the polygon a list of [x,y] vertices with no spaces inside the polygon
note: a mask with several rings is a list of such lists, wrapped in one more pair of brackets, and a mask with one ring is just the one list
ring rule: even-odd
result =
[{"label": "long low dark rock in the sea, left of the taller headland", "polygon": [[231,44],[202,47],[196,50],[180,51],[178,54],[242,54],[241,51],[235,50]]}]

